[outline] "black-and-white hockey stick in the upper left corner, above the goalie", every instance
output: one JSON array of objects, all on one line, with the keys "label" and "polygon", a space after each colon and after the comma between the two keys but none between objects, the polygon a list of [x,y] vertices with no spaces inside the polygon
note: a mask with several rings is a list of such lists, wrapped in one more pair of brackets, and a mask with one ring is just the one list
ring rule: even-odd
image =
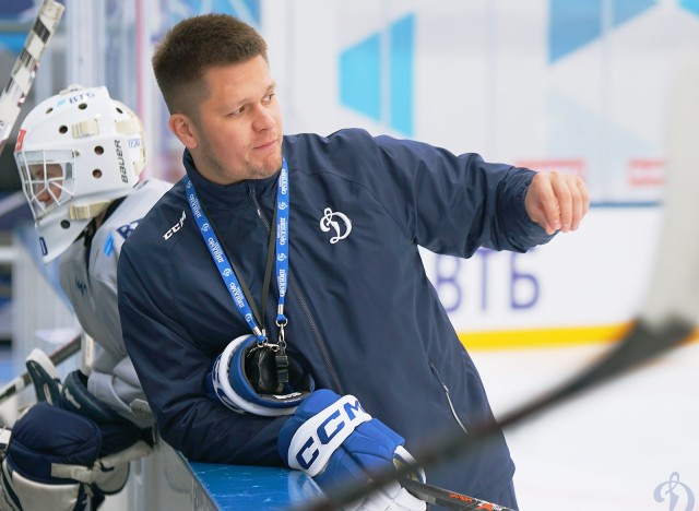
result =
[{"label": "black-and-white hockey stick in the upper left corner, above the goalie", "polygon": [[32,88],[46,46],[56,33],[64,9],[56,0],[44,0],[12,66],[10,80],[0,93],[0,153],[20,118],[20,110]]}]

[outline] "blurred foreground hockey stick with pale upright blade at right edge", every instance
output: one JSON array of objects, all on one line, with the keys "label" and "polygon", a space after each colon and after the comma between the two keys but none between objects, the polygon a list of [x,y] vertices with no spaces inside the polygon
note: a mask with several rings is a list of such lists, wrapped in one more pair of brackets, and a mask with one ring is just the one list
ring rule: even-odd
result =
[{"label": "blurred foreground hockey stick with pale upright blade at right edge", "polygon": [[667,178],[664,190],[660,250],[638,318],[596,364],[534,401],[491,421],[446,436],[413,452],[415,462],[370,474],[366,484],[339,487],[304,507],[310,511],[341,509],[377,489],[427,468],[467,455],[502,428],[608,381],[692,338],[699,319],[699,56],[694,55],[673,80],[668,108]]}]

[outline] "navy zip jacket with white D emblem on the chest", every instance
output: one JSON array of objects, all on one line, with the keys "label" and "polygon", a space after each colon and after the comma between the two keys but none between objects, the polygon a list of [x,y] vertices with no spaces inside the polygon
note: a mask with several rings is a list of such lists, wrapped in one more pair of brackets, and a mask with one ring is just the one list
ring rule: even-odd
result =
[{"label": "navy zip jacket with white D emblem on the chest", "polygon": [[[291,192],[287,352],[317,388],[355,395],[405,438],[408,451],[459,423],[469,429],[491,417],[418,246],[467,258],[478,247],[523,252],[548,241],[524,210],[534,173],[354,129],[286,135],[283,152]],[[194,169],[187,152],[183,162],[228,258],[260,300],[279,173],[220,186]],[[236,414],[204,394],[212,360],[250,331],[182,181],[125,243],[118,283],[126,346],[162,437],[192,461],[282,465],[276,437],[286,417]],[[274,340],[279,293],[271,287],[264,307]],[[487,496],[502,491],[513,473],[500,436],[428,470],[427,480]]]}]

